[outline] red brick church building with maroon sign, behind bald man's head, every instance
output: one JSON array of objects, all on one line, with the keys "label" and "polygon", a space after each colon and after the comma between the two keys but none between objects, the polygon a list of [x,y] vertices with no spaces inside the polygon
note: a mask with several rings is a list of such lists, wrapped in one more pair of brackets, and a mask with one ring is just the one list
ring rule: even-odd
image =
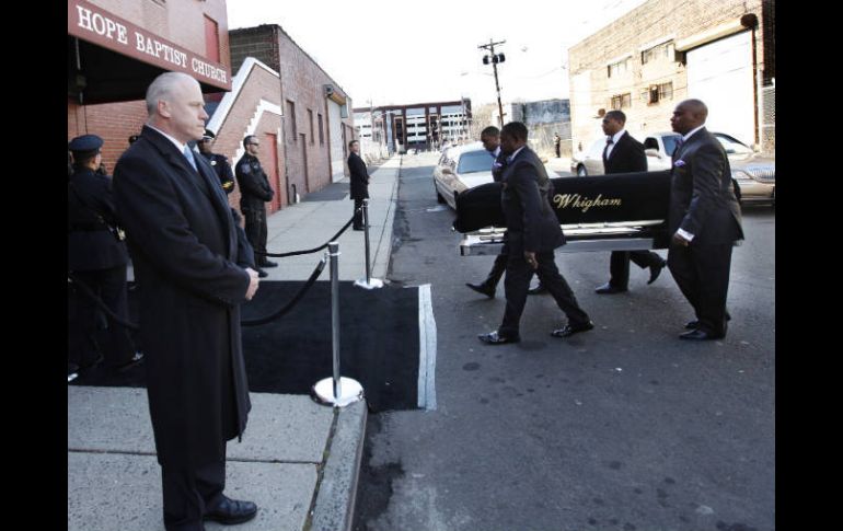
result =
[{"label": "red brick church building with maroon sign, behind bald man's head", "polygon": [[149,83],[196,78],[209,99],[231,90],[226,0],[68,0],[68,140],[105,140],[112,170],[147,119]]}]

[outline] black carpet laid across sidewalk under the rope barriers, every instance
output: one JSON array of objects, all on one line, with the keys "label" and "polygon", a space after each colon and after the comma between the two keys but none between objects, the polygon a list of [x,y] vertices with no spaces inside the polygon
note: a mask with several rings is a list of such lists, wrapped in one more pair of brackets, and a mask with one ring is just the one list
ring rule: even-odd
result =
[{"label": "black carpet laid across sidewalk under the rope barriers", "polygon": [[[303,284],[262,281],[257,296],[243,305],[243,319],[273,313]],[[418,288],[366,290],[339,284],[340,373],[362,384],[372,412],[418,407]],[[129,299],[137,322],[131,292]],[[331,284],[315,282],[277,321],[244,326],[243,353],[250,391],[309,394],[314,383],[332,376]],[[118,373],[101,365],[70,384],[145,386],[145,369]]]}]

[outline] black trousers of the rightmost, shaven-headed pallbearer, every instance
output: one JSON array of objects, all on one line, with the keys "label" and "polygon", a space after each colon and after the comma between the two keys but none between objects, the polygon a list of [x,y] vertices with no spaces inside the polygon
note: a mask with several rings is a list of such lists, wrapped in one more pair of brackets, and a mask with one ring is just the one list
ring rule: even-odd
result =
[{"label": "black trousers of the rightmost, shaven-headed pallbearer", "polygon": [[698,330],[726,334],[731,243],[670,245],[668,268],[694,309]]}]

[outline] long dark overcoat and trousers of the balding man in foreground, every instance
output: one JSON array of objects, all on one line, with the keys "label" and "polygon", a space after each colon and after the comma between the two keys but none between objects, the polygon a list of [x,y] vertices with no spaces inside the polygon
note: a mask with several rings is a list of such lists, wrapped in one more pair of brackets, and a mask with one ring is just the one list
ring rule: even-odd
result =
[{"label": "long dark overcoat and trousers of the balding man in foreground", "polygon": [[149,413],[162,467],[164,523],[201,528],[222,497],[226,441],[251,408],[240,338],[250,276],[219,180],[145,126],[114,173],[140,295]]}]

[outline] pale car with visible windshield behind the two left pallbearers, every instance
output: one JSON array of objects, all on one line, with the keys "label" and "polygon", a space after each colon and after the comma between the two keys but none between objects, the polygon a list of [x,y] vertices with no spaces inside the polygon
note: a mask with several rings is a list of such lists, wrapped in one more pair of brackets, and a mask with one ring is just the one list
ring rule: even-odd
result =
[{"label": "pale car with visible windshield behind the two left pallbearers", "polygon": [[461,194],[474,186],[493,182],[494,162],[492,153],[481,142],[446,149],[434,169],[436,199],[457,209],[454,192]]}]

